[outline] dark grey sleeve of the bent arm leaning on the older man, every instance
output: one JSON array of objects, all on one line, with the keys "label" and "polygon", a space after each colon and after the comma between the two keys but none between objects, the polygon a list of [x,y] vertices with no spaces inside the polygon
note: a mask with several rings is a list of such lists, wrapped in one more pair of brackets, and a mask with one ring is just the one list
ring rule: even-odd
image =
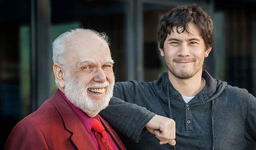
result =
[{"label": "dark grey sleeve of the bent arm leaning on the older man", "polygon": [[109,105],[100,115],[123,135],[138,142],[146,131],[145,125],[156,114],[135,104],[135,82],[117,82]]}]

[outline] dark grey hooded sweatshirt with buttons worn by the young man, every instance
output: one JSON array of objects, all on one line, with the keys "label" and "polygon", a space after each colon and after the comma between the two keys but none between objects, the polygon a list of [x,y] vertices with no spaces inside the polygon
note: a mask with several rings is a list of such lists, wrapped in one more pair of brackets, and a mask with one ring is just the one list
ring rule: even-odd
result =
[{"label": "dark grey hooded sweatshirt with buttons worn by the young man", "polygon": [[[188,103],[168,73],[158,80],[116,82],[109,106],[100,112],[127,149],[243,149],[256,142],[256,98],[203,70],[204,88]],[[159,114],[176,122],[176,145],[159,144],[146,123]],[[132,139],[132,140],[130,140]]]}]

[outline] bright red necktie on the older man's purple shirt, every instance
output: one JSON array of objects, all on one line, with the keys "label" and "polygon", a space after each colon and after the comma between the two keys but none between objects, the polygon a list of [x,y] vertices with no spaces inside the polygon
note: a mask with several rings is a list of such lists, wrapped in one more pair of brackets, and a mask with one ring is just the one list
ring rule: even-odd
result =
[{"label": "bright red necktie on the older man's purple shirt", "polygon": [[103,125],[100,123],[99,120],[92,118],[92,129],[95,132],[96,139],[99,144],[100,150],[112,150],[111,144],[107,138],[107,133]]}]

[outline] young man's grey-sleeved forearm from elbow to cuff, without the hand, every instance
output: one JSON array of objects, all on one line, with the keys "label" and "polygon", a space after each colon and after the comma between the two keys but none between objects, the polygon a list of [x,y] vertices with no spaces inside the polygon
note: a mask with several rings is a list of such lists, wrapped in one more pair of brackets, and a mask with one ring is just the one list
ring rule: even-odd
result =
[{"label": "young man's grey-sleeved forearm from elbow to cuff, without the hand", "polygon": [[112,97],[100,115],[123,135],[138,142],[146,131],[145,125],[155,116],[154,112],[134,103]]}]

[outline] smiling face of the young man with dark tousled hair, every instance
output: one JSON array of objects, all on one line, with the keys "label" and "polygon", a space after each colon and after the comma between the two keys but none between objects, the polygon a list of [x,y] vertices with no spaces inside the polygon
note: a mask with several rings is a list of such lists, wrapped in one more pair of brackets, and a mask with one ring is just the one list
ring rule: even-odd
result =
[{"label": "smiling face of the young man with dark tousled hair", "polygon": [[[165,58],[169,76],[187,79],[202,72],[204,58],[211,47],[206,48],[205,42],[195,24],[189,23],[189,32],[178,33],[176,27],[168,34],[164,47],[159,48]],[[182,28],[178,28],[182,30]]]}]

